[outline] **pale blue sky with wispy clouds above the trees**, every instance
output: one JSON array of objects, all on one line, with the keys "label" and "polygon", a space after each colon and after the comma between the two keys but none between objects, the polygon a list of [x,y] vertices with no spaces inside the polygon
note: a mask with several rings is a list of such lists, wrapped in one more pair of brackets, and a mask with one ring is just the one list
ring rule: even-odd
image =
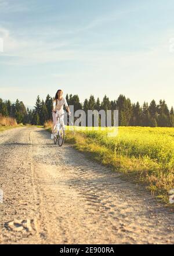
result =
[{"label": "pale blue sky with wispy clouds above the trees", "polygon": [[174,106],[173,0],[0,0],[0,98]]}]

